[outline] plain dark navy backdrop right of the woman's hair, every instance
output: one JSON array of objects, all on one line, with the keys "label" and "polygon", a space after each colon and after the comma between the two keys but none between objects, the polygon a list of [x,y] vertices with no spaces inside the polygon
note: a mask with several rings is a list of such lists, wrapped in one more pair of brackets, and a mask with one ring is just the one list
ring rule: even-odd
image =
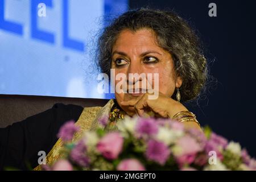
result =
[{"label": "plain dark navy backdrop right of the woman's hair", "polygon": [[[217,17],[208,15],[212,2]],[[208,86],[207,98],[188,109],[201,126],[240,142],[256,157],[256,1],[130,0],[130,9],[139,7],[174,10],[196,28],[216,80]]]}]

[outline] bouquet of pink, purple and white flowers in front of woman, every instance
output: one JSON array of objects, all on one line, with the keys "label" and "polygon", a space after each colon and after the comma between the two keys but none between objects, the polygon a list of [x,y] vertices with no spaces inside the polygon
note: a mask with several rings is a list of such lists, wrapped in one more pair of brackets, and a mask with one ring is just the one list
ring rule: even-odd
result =
[{"label": "bouquet of pink, purple and white flowers in front of woman", "polygon": [[126,117],[113,129],[106,119],[100,121],[104,127],[87,131],[76,142],[71,139],[79,127],[65,123],[58,134],[65,158],[44,169],[256,170],[256,160],[239,143],[228,142],[209,127],[200,131],[171,119]]}]

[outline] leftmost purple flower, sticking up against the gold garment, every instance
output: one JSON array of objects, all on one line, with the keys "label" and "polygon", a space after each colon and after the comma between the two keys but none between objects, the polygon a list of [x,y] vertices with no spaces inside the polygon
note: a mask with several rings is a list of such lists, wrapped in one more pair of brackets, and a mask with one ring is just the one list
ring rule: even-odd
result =
[{"label": "leftmost purple flower, sticking up against the gold garment", "polygon": [[66,122],[61,126],[59,133],[57,134],[58,138],[61,138],[63,142],[68,142],[72,140],[73,135],[79,131],[79,127],[75,126],[75,121],[71,120]]}]

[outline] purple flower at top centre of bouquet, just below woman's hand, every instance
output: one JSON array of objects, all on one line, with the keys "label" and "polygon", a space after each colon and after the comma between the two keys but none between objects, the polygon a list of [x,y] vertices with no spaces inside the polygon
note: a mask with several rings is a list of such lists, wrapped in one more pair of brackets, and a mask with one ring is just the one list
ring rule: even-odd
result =
[{"label": "purple flower at top centre of bouquet, just below woman's hand", "polygon": [[153,118],[139,118],[135,129],[139,137],[154,135],[158,133],[158,125]]}]

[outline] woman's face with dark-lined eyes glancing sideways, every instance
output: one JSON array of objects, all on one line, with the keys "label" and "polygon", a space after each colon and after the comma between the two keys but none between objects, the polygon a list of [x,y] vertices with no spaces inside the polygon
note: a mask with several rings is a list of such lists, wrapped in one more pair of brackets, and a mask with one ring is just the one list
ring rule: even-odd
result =
[{"label": "woman's face with dark-lined eyes glancing sideways", "polygon": [[[112,49],[112,68],[114,68],[115,76],[118,73],[124,73],[129,78],[129,73],[148,73],[152,74],[152,79],[146,77],[151,83],[153,89],[156,89],[156,81],[158,81],[158,90],[165,96],[172,96],[175,87],[179,88],[182,84],[180,77],[176,77],[174,70],[174,61],[169,52],[159,47],[156,43],[155,34],[150,29],[143,28],[132,32],[123,30]],[[158,74],[158,78],[154,78],[154,73]],[[139,88],[142,88],[142,78],[128,80],[127,88],[139,82]],[[120,80],[115,79],[115,85]],[[138,83],[137,83],[138,84]],[[130,91],[130,90],[129,90]],[[129,115],[134,115],[136,112],[133,107],[125,107],[121,105],[122,101],[138,100],[143,96],[140,93],[118,93],[115,89],[115,98],[118,105],[122,107]],[[157,92],[157,91],[155,91]]]}]

